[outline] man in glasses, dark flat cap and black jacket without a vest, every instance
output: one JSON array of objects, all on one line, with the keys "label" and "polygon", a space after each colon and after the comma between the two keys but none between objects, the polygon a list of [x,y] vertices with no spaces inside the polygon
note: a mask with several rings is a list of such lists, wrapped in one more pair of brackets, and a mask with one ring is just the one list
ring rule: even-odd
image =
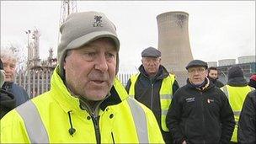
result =
[{"label": "man in glasses, dark flat cap and black jacket without a vest", "polygon": [[188,80],[173,95],[166,123],[174,143],[228,143],[235,121],[225,93],[207,78],[205,61],[190,61]]}]

